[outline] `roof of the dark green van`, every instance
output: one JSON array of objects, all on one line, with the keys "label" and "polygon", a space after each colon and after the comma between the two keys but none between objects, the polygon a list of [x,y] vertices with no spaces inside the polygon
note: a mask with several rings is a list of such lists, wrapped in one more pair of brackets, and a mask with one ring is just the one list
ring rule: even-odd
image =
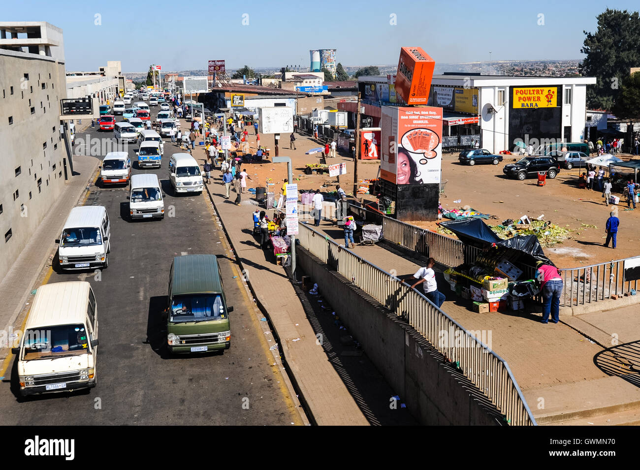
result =
[{"label": "roof of the dark green van", "polygon": [[216,255],[173,258],[172,295],[222,292]]}]

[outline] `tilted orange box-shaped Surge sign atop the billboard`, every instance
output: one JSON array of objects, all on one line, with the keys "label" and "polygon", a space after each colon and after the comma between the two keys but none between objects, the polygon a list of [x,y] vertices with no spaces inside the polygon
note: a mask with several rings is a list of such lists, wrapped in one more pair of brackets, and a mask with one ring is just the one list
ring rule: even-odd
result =
[{"label": "tilted orange box-shaped Surge sign atop the billboard", "polygon": [[427,104],[435,61],[420,47],[403,47],[396,74],[396,93],[406,104]]}]

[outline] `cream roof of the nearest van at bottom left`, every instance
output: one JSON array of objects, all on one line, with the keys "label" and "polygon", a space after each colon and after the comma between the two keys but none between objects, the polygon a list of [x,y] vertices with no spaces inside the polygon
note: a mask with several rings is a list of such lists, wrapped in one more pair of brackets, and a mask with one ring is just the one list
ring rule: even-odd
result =
[{"label": "cream roof of the nearest van at bottom left", "polygon": [[83,323],[89,283],[73,281],[38,287],[33,299],[26,329],[60,324]]}]

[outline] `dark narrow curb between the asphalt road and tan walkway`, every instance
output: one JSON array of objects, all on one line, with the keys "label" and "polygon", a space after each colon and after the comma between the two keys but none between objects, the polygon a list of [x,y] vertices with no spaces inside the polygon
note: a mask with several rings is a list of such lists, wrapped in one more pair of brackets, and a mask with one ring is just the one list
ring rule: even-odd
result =
[{"label": "dark narrow curb between the asphalt road and tan walkway", "polygon": [[[209,195],[209,201],[211,201],[211,205],[214,208],[215,214],[218,216],[218,219],[220,219],[220,226],[222,227],[223,233],[225,234],[225,239],[227,241],[227,244],[233,248],[234,256],[236,256],[236,263],[240,267],[240,269],[244,271],[245,268],[244,268],[243,262],[241,261],[240,257],[237,255],[237,249],[228,235],[227,228],[225,227],[225,223],[222,217],[220,217],[220,211],[218,210],[218,207],[216,207],[216,203],[213,200],[209,186],[206,184],[204,186],[207,189],[207,194]],[[287,277],[289,277],[288,273],[287,273]],[[303,409],[303,412],[298,411],[298,413],[300,414],[300,418],[302,419],[303,423],[305,423],[305,425],[317,425],[316,419],[314,418],[311,412],[311,409],[308,406],[308,402],[302,393],[300,385],[298,384],[298,380],[296,380],[296,376],[292,371],[291,366],[289,366],[289,364],[287,363],[287,358],[285,357],[284,350],[282,348],[282,340],[280,340],[280,335],[278,334],[278,331],[276,330],[275,325],[273,324],[273,321],[269,316],[268,310],[264,308],[264,306],[262,305],[262,302],[260,302],[259,296],[257,295],[255,289],[253,288],[250,280],[246,279],[245,282],[246,282],[246,286],[244,288],[248,290],[248,294],[252,295],[255,301],[255,306],[260,311],[260,313],[264,315],[264,318],[266,318],[267,324],[269,325],[269,329],[271,329],[271,332],[273,333],[273,339],[278,344],[278,350],[277,350],[278,354],[276,355],[275,351],[272,351],[272,354],[276,359],[276,361],[278,361],[278,359],[282,361],[282,366],[284,367],[284,371],[286,372],[286,374],[283,374],[283,377],[285,377],[285,379],[287,380],[287,388],[289,389],[289,392],[292,393],[292,395],[295,395],[295,398],[297,398],[298,401],[300,402],[300,405]]]}]

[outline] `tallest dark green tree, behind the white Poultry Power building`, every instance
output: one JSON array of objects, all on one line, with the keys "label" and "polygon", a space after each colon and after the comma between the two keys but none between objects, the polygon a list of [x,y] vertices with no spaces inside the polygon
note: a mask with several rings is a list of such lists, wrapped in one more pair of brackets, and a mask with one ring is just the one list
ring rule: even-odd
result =
[{"label": "tallest dark green tree, behind the white Poultry Power building", "polygon": [[586,57],[580,63],[580,74],[598,80],[587,87],[587,105],[612,109],[620,94],[619,84],[640,63],[640,15],[607,8],[597,19],[595,33],[583,31],[586,38],[580,52]]}]

